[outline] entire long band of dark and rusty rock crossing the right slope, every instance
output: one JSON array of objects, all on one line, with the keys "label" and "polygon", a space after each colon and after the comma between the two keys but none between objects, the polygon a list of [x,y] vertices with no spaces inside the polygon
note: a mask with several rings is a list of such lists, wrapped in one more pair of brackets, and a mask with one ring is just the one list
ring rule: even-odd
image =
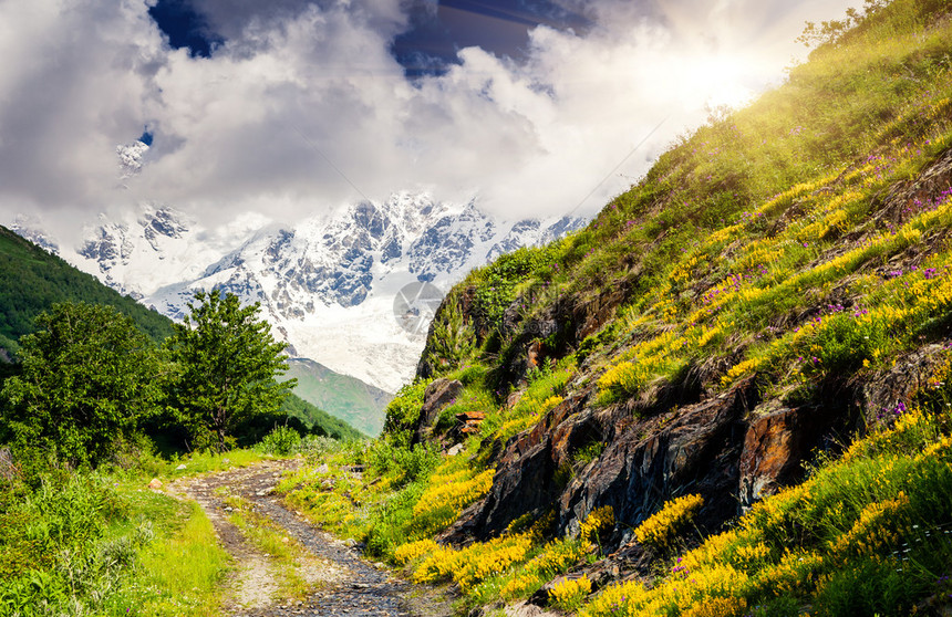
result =
[{"label": "entire long band of dark and rusty rock crossing the right slope", "polygon": [[[590,391],[571,396],[506,443],[495,459],[489,493],[443,540],[486,540],[517,517],[553,505],[560,533],[573,534],[589,512],[610,505],[618,532],[607,548],[624,547],[629,536],[623,530],[687,493],[704,498],[695,522],[714,531],[803,480],[804,462],[815,451],[841,446],[857,428],[893,421],[897,409],[901,414],[929,387],[942,351],[942,345],[930,345],[897,358],[890,369],[825,395],[822,405],[762,402],[752,378],[713,396],[695,391],[697,400],[674,409],[670,386],[655,388],[651,401],[607,408],[592,405]],[[441,381],[445,379],[434,385]],[[434,402],[435,397],[434,391]],[[606,443],[603,451],[580,467],[577,452],[596,441]]]}]

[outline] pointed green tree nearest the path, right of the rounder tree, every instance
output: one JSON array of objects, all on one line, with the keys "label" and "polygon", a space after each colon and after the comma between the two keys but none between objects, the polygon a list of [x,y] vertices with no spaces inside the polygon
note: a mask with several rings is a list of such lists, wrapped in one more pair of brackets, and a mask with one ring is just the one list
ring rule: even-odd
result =
[{"label": "pointed green tree nearest the path, right of the rounder tree", "polygon": [[260,304],[241,307],[238,296],[215,290],[196,293],[188,308],[168,344],[178,367],[173,405],[194,447],[225,450],[236,426],[276,411],[297,380],[276,378],[287,369],[286,344],[257,317]]}]

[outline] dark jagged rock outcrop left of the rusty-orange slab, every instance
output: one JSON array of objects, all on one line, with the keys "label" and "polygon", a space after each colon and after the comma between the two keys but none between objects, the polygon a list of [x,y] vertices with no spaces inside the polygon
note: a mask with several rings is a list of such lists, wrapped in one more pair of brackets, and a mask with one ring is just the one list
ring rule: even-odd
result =
[{"label": "dark jagged rock outcrop left of the rusty-orange slab", "polygon": [[[744,418],[755,393],[747,380],[715,398],[640,420],[624,406],[596,409],[587,395],[570,397],[507,445],[489,494],[445,540],[491,537],[517,517],[553,504],[562,532],[575,533],[602,505],[611,505],[620,527],[628,529],[682,492],[703,494],[703,519],[717,526],[737,512]],[[580,467],[577,454],[598,442],[606,443],[604,451]]]}]

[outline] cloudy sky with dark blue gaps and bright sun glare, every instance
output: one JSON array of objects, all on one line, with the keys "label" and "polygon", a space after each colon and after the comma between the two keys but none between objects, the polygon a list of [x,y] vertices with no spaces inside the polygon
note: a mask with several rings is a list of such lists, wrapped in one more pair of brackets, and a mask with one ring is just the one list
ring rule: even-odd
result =
[{"label": "cloudy sky with dark blue gaps and bright sun glare", "polygon": [[0,0],[0,222],[294,222],[397,190],[591,215],[856,3]]}]

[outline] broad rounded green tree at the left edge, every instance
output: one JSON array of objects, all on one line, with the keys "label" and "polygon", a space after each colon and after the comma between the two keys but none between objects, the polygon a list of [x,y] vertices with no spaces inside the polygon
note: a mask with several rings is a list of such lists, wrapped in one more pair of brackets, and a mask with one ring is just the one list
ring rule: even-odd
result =
[{"label": "broad rounded green tree at the left edge", "polygon": [[3,385],[3,415],[18,450],[96,464],[159,410],[155,344],[112,306],[66,302],[20,338],[22,372]]}]

